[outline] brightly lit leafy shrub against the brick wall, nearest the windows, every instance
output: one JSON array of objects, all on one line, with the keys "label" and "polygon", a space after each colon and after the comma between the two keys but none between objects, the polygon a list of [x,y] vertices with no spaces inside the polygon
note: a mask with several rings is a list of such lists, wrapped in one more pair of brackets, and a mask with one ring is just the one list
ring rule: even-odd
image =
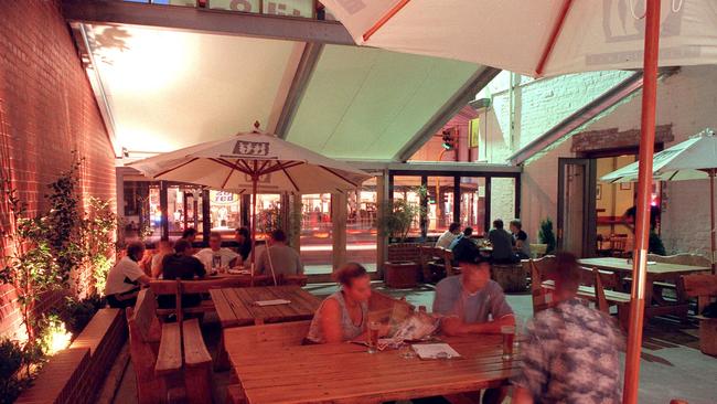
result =
[{"label": "brightly lit leafy shrub against the brick wall, nearest the windows", "polygon": [[82,255],[84,264],[92,268],[96,293],[105,290],[107,273],[115,256],[115,231],[117,214],[110,201],[89,198],[88,209],[82,222]]}]

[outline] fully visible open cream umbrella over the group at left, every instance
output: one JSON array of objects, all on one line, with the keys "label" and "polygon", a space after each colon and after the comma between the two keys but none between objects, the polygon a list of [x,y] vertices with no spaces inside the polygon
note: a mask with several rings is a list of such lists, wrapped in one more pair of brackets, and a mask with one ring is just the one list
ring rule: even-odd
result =
[{"label": "fully visible open cream umbrella over the group at left", "polygon": [[[370,174],[353,166],[255,130],[130,163],[156,180],[181,181],[252,193],[252,251],[256,246],[257,193],[345,192]],[[252,254],[252,275],[256,254]]]}]

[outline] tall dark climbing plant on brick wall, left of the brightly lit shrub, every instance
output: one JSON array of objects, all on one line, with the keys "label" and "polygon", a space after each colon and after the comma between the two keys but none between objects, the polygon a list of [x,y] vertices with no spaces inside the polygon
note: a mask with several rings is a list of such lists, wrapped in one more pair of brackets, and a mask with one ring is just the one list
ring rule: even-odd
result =
[{"label": "tall dark climbing plant on brick wall, left of the brightly lit shrub", "polygon": [[73,269],[83,262],[82,248],[82,201],[77,192],[79,184],[78,172],[84,159],[77,158],[73,151],[73,162],[67,171],[61,172],[57,180],[50,183],[50,193],[45,195],[50,202],[46,215],[47,234],[45,235],[52,254],[57,259],[58,274],[67,281]]}]

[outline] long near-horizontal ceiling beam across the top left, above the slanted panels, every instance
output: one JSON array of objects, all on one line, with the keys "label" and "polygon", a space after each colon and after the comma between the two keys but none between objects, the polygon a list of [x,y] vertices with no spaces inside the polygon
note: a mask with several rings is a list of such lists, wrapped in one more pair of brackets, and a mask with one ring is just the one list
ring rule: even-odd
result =
[{"label": "long near-horizontal ceiling beam across the top left, above the slanted panels", "polygon": [[68,22],[355,45],[339,22],[113,0],[63,0]]}]

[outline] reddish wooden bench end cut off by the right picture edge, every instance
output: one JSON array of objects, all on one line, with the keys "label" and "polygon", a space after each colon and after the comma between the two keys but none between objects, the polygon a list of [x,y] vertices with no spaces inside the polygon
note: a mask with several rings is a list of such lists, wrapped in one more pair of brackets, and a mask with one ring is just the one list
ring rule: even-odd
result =
[{"label": "reddish wooden bench end cut off by the right picture edge", "polygon": [[699,350],[709,355],[717,355],[717,318],[702,316],[705,307],[717,298],[717,275],[684,275],[681,283],[687,296],[697,298],[695,313],[699,319]]}]

